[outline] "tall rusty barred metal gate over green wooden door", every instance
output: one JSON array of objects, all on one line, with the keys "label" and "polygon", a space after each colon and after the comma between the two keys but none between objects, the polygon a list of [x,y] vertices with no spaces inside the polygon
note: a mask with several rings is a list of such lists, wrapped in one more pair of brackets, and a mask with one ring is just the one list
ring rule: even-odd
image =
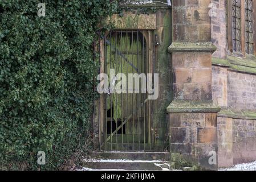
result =
[{"label": "tall rusty barred metal gate over green wooden door", "polygon": [[[151,103],[141,91],[140,77],[152,72],[151,36],[145,30],[114,30],[100,36],[101,72],[108,75],[109,85],[100,96],[100,150],[151,150]],[[139,82],[133,80],[136,76]]]}]

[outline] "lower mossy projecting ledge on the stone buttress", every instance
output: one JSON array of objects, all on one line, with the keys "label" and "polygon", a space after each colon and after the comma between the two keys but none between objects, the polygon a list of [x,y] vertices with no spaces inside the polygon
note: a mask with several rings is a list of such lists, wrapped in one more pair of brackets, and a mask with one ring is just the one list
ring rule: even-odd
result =
[{"label": "lower mossy projecting ledge on the stone buttress", "polygon": [[167,107],[167,113],[218,113],[220,107],[212,101],[182,101],[174,100]]}]

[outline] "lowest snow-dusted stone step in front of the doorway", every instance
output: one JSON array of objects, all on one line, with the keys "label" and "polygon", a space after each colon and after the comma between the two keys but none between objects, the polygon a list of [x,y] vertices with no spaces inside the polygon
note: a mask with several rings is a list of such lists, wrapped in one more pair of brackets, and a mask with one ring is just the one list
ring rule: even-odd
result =
[{"label": "lowest snow-dusted stone step in front of the doorway", "polygon": [[161,160],[109,160],[86,159],[83,167],[87,169],[112,169],[112,170],[153,170],[163,171],[172,169],[172,163]]}]

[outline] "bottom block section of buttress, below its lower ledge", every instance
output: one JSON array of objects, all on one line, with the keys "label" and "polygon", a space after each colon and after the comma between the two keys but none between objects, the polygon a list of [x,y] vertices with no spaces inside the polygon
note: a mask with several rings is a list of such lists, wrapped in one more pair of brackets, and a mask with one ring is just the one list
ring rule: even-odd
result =
[{"label": "bottom block section of buttress, below its lower ledge", "polygon": [[[216,113],[170,114],[170,148],[174,153],[187,156],[205,168],[214,168],[208,163],[209,153],[217,150]],[[216,167],[216,166],[215,166]]]}]

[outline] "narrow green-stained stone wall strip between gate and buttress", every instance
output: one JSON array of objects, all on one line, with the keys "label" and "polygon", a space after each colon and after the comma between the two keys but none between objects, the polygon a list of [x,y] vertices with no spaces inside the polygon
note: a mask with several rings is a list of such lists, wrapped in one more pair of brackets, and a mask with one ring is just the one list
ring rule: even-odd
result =
[{"label": "narrow green-stained stone wall strip between gate and buttress", "polygon": [[152,119],[154,132],[153,142],[156,151],[165,151],[168,148],[168,117],[166,107],[172,100],[172,74],[168,47],[172,43],[172,19],[169,9],[159,9],[156,12],[156,30],[152,32],[157,35],[159,46],[155,47],[155,60],[153,73],[159,74],[159,98],[152,101]]}]

